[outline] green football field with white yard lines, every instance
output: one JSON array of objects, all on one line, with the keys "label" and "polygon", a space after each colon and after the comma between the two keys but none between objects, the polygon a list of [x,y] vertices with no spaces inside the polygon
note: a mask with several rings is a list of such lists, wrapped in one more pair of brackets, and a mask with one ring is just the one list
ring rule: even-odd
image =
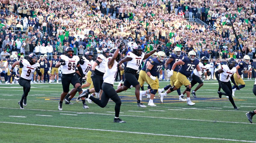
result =
[{"label": "green football field with white yard lines", "polygon": [[[157,94],[156,107],[139,108],[131,88],[118,94],[120,118],[126,123],[113,123],[113,101],[105,108],[86,101],[89,109],[83,109],[82,102],[75,101],[78,94],[73,105],[63,103],[59,111],[61,83],[31,84],[23,110],[18,105],[23,88],[0,84],[0,142],[256,142],[256,117],[251,124],[245,115],[256,109],[254,80],[245,83],[234,97],[239,110],[234,110],[226,96],[218,97],[216,80],[204,81],[197,98],[191,95],[194,106],[178,101],[175,91],[164,103]],[[160,82],[160,87],[167,84],[170,82]],[[148,100],[145,96],[142,103],[148,105]]]}]

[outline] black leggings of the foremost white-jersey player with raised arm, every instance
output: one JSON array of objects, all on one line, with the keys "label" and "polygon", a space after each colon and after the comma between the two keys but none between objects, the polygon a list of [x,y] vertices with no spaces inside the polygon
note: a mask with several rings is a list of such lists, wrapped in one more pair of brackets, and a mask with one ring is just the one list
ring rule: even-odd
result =
[{"label": "black leggings of the foremost white-jersey player with raised arm", "polygon": [[[93,84],[94,85],[94,84]],[[119,117],[120,112],[120,106],[122,104],[120,97],[117,95],[116,90],[113,88],[112,84],[109,83],[103,83],[102,84],[102,95],[101,100],[98,98],[94,98],[93,96],[90,96],[90,99],[96,103],[99,107],[104,108],[108,104],[109,98],[113,100],[116,103],[115,106],[115,116]]]}]

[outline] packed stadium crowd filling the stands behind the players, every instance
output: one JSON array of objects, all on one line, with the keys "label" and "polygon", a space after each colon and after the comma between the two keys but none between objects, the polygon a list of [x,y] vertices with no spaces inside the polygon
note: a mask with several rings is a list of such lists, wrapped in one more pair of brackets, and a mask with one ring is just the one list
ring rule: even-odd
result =
[{"label": "packed stadium crowd filling the stands behind the players", "polygon": [[[256,9],[250,0],[3,0],[0,8],[1,61],[30,53],[46,54],[51,60],[52,55],[63,54],[66,47],[72,47],[75,55],[82,56],[86,51],[97,55],[121,42],[128,47],[123,57],[134,45],[141,45],[148,53],[164,43],[158,51],[164,51],[167,57],[177,46],[183,55],[195,51],[198,58],[221,61],[242,59],[247,54],[255,59]],[[187,21],[192,18],[208,26]],[[230,20],[238,40],[228,26]]]}]

